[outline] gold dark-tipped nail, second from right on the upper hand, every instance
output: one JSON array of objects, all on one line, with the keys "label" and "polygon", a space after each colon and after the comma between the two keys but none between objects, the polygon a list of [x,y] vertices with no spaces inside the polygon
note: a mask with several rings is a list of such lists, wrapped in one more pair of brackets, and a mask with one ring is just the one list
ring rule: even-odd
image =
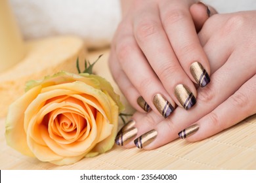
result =
[{"label": "gold dark-tipped nail, second from right on the upper hand", "polygon": [[178,84],[175,87],[175,95],[181,105],[186,109],[190,109],[196,104],[196,97],[194,97],[193,93],[186,88],[183,84]]}]

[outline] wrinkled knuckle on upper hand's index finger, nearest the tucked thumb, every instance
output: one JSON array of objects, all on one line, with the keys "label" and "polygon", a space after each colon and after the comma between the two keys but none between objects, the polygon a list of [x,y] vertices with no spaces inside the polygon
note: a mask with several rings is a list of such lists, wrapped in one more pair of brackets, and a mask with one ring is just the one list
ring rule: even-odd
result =
[{"label": "wrinkled knuckle on upper hand's index finger, nearest the tucked thumb", "polygon": [[186,18],[188,13],[181,9],[170,10],[163,15],[163,24],[170,25]]}]

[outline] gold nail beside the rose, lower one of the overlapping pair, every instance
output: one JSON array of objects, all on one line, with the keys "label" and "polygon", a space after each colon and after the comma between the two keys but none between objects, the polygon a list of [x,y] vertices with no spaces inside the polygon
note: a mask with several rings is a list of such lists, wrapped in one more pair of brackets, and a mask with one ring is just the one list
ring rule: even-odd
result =
[{"label": "gold nail beside the rose, lower one of the overlapping pair", "polygon": [[116,137],[116,144],[119,146],[123,146],[124,144],[127,144],[127,142],[130,142],[136,135],[137,135],[137,128],[132,127],[131,129],[128,129],[127,131],[119,133]]}]

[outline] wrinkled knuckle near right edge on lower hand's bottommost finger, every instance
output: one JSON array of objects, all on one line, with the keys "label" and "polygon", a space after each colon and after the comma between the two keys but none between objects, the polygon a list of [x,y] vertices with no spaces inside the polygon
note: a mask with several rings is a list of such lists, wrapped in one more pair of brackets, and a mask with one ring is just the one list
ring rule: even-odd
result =
[{"label": "wrinkled knuckle near right edge on lower hand's bottommost finger", "polygon": [[244,93],[236,92],[230,96],[231,105],[234,107],[245,109],[249,103],[249,99]]}]

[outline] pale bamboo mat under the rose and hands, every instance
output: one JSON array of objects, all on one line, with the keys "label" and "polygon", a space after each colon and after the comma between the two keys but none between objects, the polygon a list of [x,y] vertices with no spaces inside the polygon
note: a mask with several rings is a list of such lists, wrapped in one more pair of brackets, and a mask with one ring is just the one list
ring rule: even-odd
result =
[{"label": "pale bamboo mat under the rose and hands", "polygon": [[[106,77],[114,84],[107,67],[108,50],[91,52],[93,61],[104,52],[103,61],[96,66],[96,74]],[[118,93],[119,90],[114,84]],[[127,110],[132,110],[125,99]],[[121,124],[120,124],[121,125]],[[44,163],[23,156],[5,142],[5,118],[0,118],[0,169],[256,169],[256,114],[209,139],[186,142],[181,139],[156,150],[124,149],[114,146],[112,150],[66,166]]]}]

